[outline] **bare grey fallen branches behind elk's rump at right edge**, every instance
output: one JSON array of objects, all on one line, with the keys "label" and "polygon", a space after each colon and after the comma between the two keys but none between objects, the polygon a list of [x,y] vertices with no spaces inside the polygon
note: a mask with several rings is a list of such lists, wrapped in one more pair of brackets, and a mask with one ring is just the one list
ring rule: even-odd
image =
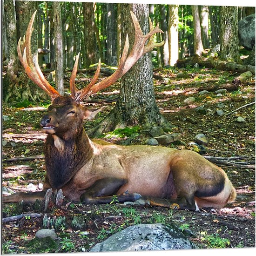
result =
[{"label": "bare grey fallen branches behind elk's rump at right edge", "polygon": [[246,155],[232,157],[215,157],[205,155],[204,158],[207,159],[209,162],[215,163],[216,165],[229,166],[235,168],[255,169],[255,162],[235,162],[235,160],[249,158],[249,156]]}]

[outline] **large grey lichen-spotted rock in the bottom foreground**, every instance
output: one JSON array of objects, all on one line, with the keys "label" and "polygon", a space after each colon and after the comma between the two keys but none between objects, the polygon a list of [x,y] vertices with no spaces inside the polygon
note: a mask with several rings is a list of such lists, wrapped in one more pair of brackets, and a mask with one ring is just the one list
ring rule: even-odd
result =
[{"label": "large grey lichen-spotted rock in the bottom foreground", "polygon": [[196,248],[180,230],[156,223],[130,226],[96,244],[90,252]]}]

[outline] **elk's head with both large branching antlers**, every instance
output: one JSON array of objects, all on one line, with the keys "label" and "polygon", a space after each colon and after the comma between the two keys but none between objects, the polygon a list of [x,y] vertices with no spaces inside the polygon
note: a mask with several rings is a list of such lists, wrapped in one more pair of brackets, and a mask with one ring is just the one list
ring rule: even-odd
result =
[{"label": "elk's head with both large branching antlers", "polygon": [[[121,56],[121,60],[119,66],[114,74],[110,75],[108,78],[99,81],[96,83],[101,69],[101,60],[99,60],[97,70],[94,74],[92,81],[88,84],[87,87],[78,90],[75,86],[75,76],[77,73],[78,59],[79,54],[76,56],[76,60],[74,63],[74,68],[70,78],[70,96],[61,96],[46,80],[44,75],[42,74],[40,67],[38,65],[38,54],[36,56],[35,64],[32,60],[31,54],[31,34],[33,31],[33,23],[36,15],[36,11],[34,12],[29,25],[27,27],[26,39],[22,45],[20,46],[20,40],[18,42],[18,56],[21,64],[25,68],[25,71],[29,78],[34,81],[41,89],[43,89],[52,100],[52,105],[48,108],[48,114],[44,116],[40,122],[43,131],[47,134],[55,134],[58,135],[63,133],[69,129],[76,129],[78,125],[82,122],[83,119],[91,119],[93,118],[101,109],[99,110],[89,110],[88,108],[82,106],[81,101],[88,97],[91,94],[94,94],[104,88],[109,87],[115,81],[117,81],[121,76],[126,74],[128,70],[135,64],[136,61],[143,55],[151,51],[154,47],[162,46],[164,41],[160,43],[154,42],[154,34],[155,33],[163,33],[159,28],[158,24],[155,28],[153,28],[152,22],[149,19],[150,31],[148,34],[143,35],[141,31],[140,24],[135,16],[135,14],[131,11],[131,17],[133,20],[133,24],[135,27],[135,42],[134,45],[128,54],[129,49],[129,40],[128,35],[126,36],[123,53]],[[148,44],[145,45],[148,40]],[[22,49],[21,49],[22,48]],[[23,55],[22,52],[23,51]]]}]

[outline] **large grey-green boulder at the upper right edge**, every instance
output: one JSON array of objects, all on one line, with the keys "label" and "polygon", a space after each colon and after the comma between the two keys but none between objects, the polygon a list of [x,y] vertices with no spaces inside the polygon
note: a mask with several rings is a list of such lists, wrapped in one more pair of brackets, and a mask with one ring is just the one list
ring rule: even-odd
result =
[{"label": "large grey-green boulder at the upper right edge", "polygon": [[238,37],[243,47],[247,50],[253,49],[255,46],[255,13],[239,20]]}]

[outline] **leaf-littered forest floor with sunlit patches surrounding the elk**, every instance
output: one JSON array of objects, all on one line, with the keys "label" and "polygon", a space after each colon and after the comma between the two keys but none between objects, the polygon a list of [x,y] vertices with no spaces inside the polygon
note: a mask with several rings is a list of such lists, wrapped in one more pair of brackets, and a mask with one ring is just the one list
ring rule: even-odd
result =
[{"label": "leaf-littered forest floor with sunlit patches surrounding the elk", "polygon": [[[200,95],[198,88],[210,85],[231,84],[237,75],[214,69],[157,69],[155,74],[163,79],[155,80],[155,96],[162,115],[174,126],[173,132],[180,133],[182,141],[170,147],[189,148],[195,142],[195,136],[203,133],[209,143],[206,155],[231,157],[246,155],[245,161],[255,159],[255,105],[237,110],[230,115],[219,116],[216,110],[224,114],[255,101],[255,80],[252,79],[241,88],[216,96],[214,92]],[[180,74],[177,76],[177,74]],[[184,75],[183,75],[184,74]],[[103,76],[103,75],[102,75]],[[81,77],[78,75],[78,78]],[[178,78],[183,77],[183,78]],[[85,123],[85,128],[93,128],[115,106],[115,102],[102,102],[110,97],[118,97],[119,84],[95,94],[92,99],[99,103],[92,107],[103,106],[94,121]],[[184,100],[195,97],[195,101],[186,105]],[[26,103],[26,102],[25,102]],[[25,104],[24,103],[24,104]],[[43,142],[46,138],[40,130],[40,118],[46,113],[46,105],[22,106],[22,104],[3,104],[3,171],[2,186],[14,192],[39,191],[45,171],[43,159],[33,161],[7,162],[5,159],[43,155]],[[202,106],[198,112],[195,108]],[[237,122],[238,116],[243,122]],[[146,144],[147,134],[136,131],[132,144]],[[103,138],[104,139],[104,138]],[[108,138],[108,141],[120,143],[125,137]],[[107,140],[107,139],[105,139]],[[6,162],[5,162],[6,161]],[[241,161],[240,161],[241,162]],[[43,211],[36,211],[31,205],[20,206],[15,203],[2,205],[2,217],[40,213],[37,218],[24,216],[20,220],[2,224],[2,252],[43,253],[43,252],[83,252],[108,236],[136,223],[174,223],[183,232],[190,232],[189,239],[199,248],[248,248],[255,247],[255,170],[253,168],[233,168],[222,166],[237,192],[236,202],[224,209],[203,209],[198,212],[171,210],[162,207],[126,207],[123,204],[82,205],[70,203],[62,209],[53,208],[48,217],[66,218],[66,226],[56,229],[57,243],[41,243],[34,239],[37,230],[42,228]],[[33,185],[29,185],[32,183]],[[71,221],[74,215],[88,216],[86,227],[74,230]],[[188,229],[190,231],[188,231]]]}]

